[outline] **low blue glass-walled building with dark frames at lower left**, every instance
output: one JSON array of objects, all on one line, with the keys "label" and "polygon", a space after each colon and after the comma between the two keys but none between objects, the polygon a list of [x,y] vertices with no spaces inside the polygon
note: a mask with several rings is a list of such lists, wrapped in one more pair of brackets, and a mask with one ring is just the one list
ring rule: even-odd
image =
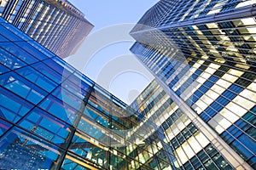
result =
[{"label": "low blue glass-walled building with dark frames at lower left", "polygon": [[0,26],[0,169],[173,167],[150,120],[2,18]]}]

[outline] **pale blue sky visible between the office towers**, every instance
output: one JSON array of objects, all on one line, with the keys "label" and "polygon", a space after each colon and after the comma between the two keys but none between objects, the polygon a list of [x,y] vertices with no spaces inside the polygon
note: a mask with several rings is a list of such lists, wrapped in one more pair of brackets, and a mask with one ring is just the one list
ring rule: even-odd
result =
[{"label": "pale blue sky visible between the office towers", "polygon": [[[67,62],[130,104],[153,76],[131,54],[132,26],[157,0],[69,0],[95,27]],[[113,38],[116,37],[116,38]]]}]

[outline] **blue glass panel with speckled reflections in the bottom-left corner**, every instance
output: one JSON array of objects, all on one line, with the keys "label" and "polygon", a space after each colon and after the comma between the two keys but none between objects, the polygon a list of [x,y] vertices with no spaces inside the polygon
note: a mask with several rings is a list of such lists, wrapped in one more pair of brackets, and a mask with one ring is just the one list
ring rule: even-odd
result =
[{"label": "blue glass panel with speckled reflections in the bottom-left corner", "polygon": [[54,169],[64,151],[14,127],[0,139],[0,169]]}]

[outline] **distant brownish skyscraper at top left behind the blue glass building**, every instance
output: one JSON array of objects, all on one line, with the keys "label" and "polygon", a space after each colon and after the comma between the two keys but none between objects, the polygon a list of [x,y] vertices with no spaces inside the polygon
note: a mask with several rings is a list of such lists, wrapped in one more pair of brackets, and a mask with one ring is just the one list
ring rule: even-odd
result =
[{"label": "distant brownish skyscraper at top left behind the blue glass building", "polygon": [[93,27],[66,0],[3,0],[0,16],[61,58],[73,54]]}]

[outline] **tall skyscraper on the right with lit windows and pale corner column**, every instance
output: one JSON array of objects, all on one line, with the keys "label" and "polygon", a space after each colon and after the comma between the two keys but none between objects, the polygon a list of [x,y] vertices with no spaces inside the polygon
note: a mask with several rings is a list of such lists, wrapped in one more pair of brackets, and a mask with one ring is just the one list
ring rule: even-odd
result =
[{"label": "tall skyscraper on the right with lit windows and pale corner column", "polygon": [[133,107],[159,114],[178,167],[256,168],[253,2],[161,0],[131,31],[131,51],[169,95],[145,91]]}]

